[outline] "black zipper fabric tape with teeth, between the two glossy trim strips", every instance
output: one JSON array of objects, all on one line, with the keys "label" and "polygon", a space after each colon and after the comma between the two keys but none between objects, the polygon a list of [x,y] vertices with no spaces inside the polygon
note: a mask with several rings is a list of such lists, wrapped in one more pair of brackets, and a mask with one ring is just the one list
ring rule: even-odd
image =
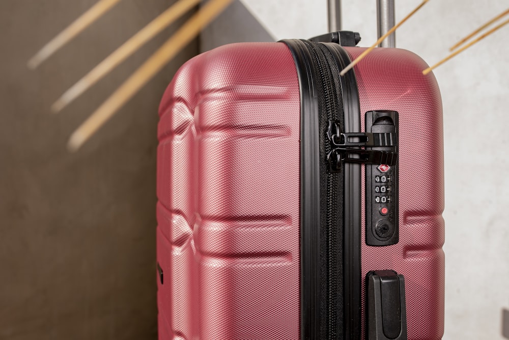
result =
[{"label": "black zipper fabric tape with teeth, between the two glossy trim strips", "polygon": [[[343,96],[341,94],[340,71],[330,49],[324,44],[306,42],[314,54],[315,72],[320,76],[315,81],[319,87],[320,110],[320,159],[325,160],[331,149],[325,132],[328,120],[338,120],[343,124]],[[340,97],[341,96],[341,97]],[[324,152],[325,151],[325,152]],[[343,335],[343,186],[344,170],[330,172],[326,162],[322,162],[320,173],[322,216],[321,216],[321,292],[327,299],[321,301],[321,338],[336,340]],[[325,205],[324,205],[325,203]]]}]

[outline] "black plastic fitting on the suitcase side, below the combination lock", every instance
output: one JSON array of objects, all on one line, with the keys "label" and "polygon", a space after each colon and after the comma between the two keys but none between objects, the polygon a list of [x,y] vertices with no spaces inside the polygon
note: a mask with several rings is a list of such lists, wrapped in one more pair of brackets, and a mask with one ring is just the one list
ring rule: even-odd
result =
[{"label": "black plastic fitting on the suitcase side, below the combination lock", "polygon": [[405,278],[392,270],[367,274],[367,339],[407,340]]}]

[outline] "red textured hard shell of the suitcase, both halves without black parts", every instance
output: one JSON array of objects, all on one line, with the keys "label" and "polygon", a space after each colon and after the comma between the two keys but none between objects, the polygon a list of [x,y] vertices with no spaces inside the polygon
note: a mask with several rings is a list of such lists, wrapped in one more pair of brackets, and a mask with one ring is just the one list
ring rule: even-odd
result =
[{"label": "red textured hard shell of the suitcase, both halves without black parts", "polygon": [[[359,247],[361,277],[405,276],[409,339],[443,334],[442,106],[426,67],[409,51],[377,48],[354,68],[361,114],[400,113],[399,243],[367,246],[362,227]],[[158,126],[160,339],[304,337],[301,95],[282,42],[208,51],[168,86]]]}]

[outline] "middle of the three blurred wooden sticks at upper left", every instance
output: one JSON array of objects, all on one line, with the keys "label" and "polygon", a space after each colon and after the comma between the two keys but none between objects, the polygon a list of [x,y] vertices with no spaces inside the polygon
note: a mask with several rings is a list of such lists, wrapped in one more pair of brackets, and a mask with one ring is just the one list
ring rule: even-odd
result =
[{"label": "middle of the three blurred wooden sticks at upper left", "polygon": [[66,107],[71,101],[79,97],[83,92],[87,91],[95,83],[102,79],[112,69],[131,56],[140,46],[152,39],[163,29],[180,18],[193,6],[200,3],[200,0],[179,0],[173,6],[164,11],[157,18],[152,20],[142,30],[132,36],[122,46],[117,48],[114,53],[110,54],[99,65],[94,67],[87,75],[82,77],[76,84],[67,90],[54,104],[51,111],[57,113]]}]

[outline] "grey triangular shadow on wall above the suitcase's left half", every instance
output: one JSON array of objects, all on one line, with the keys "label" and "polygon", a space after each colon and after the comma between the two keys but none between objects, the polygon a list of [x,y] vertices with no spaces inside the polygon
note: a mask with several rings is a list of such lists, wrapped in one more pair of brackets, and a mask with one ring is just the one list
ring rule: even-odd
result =
[{"label": "grey triangular shadow on wall above the suitcase's left half", "polygon": [[234,1],[203,32],[202,52],[234,42],[275,41],[258,19],[239,1]]}]

